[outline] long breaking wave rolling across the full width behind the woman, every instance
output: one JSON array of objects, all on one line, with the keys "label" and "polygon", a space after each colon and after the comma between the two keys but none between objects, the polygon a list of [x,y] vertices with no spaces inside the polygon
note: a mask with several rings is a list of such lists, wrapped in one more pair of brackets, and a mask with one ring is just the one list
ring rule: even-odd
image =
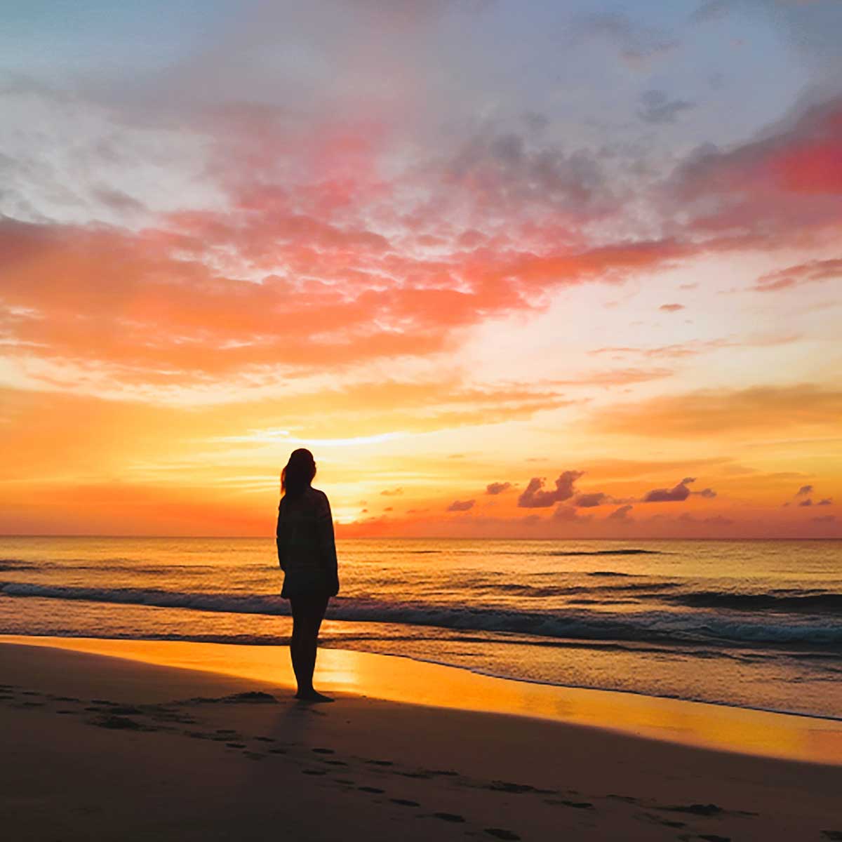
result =
[{"label": "long breaking wave rolling across the full width behind the woman", "polygon": [[[83,588],[22,582],[0,584],[6,597],[40,597],[55,600],[145,605],[157,608],[217,611],[233,614],[288,615],[289,605],[270,594],[199,594],[158,589]],[[338,597],[328,609],[328,619],[434,626],[474,632],[516,632],[534,637],[573,640],[700,643],[733,645],[807,645],[838,647],[842,623],[816,618],[811,621],[769,622],[759,618],[717,615],[713,612],[650,610],[629,613],[576,610],[507,610],[490,606],[423,605]]]}]

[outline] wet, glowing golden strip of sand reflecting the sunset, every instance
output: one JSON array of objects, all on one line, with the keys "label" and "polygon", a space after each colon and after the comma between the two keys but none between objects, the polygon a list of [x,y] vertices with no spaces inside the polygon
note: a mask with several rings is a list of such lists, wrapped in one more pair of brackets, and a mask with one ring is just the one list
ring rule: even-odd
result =
[{"label": "wet, glowing golden strip of sand reflecting the sunset", "polygon": [[[0,635],[46,647],[292,687],[285,646],[125,638]],[[502,714],[759,758],[842,766],[842,720],[617,690],[499,678],[402,655],[322,647],[317,684],[328,692],[450,710]]]}]

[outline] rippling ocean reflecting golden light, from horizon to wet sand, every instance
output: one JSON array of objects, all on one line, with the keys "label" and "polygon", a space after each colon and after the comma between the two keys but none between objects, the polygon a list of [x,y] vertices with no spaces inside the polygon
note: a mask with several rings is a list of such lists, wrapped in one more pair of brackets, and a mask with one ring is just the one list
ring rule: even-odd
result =
[{"label": "rippling ocean reflecting golden light, from horizon to wet sand", "polygon": [[[842,718],[840,541],[338,541],[325,647]],[[283,646],[274,538],[0,538],[0,633]],[[279,652],[279,658],[287,653]]]}]

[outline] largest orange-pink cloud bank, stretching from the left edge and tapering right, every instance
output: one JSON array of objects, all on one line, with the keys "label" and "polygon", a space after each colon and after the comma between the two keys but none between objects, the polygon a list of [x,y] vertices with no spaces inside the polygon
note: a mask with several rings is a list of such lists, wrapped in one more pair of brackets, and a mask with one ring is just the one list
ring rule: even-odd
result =
[{"label": "largest orange-pink cloud bank, stretching from the left edge and tapering right", "polygon": [[462,328],[535,309],[543,292],[685,251],[618,242],[477,257],[450,243],[429,258],[354,220],[296,210],[283,191],[234,200],[139,233],[0,217],[0,304],[23,314],[6,338],[43,360],[96,362],[117,387],[323,370],[439,353]]}]

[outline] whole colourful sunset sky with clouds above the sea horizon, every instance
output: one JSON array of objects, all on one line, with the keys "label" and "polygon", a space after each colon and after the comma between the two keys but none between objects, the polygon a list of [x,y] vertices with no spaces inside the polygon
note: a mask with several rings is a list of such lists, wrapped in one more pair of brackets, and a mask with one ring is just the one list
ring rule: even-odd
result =
[{"label": "whole colourful sunset sky with clouds above the sea horizon", "polygon": [[0,532],[842,537],[838,0],[0,14]]}]

